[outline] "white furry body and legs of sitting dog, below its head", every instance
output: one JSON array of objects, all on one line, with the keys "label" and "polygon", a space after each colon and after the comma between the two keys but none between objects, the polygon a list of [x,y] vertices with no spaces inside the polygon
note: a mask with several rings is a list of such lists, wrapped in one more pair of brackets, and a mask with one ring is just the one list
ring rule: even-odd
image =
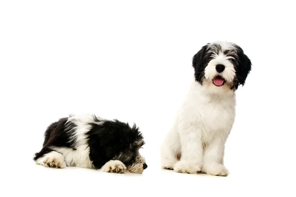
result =
[{"label": "white furry body and legs of sitting dog, below its head", "polygon": [[[210,88],[209,88],[210,86]],[[193,81],[161,146],[161,166],[177,172],[227,175],[224,144],[235,118],[235,94],[208,81]],[[177,156],[181,154],[181,159]]]}]

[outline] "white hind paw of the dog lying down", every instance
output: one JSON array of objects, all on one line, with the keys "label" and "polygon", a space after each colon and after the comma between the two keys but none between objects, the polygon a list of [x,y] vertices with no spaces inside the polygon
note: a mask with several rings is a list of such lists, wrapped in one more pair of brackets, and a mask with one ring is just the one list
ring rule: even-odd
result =
[{"label": "white hind paw of the dog lying down", "polygon": [[44,154],[42,157],[36,158],[35,162],[37,164],[44,165],[45,167],[52,167],[52,168],[66,167],[64,156],[56,151],[51,151],[49,153]]}]

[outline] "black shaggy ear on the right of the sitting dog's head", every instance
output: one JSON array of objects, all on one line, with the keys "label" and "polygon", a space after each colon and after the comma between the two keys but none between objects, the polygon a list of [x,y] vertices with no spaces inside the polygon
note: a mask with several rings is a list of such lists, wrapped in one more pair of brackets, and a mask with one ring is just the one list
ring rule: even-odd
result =
[{"label": "black shaggy ear on the right of the sitting dog's head", "polygon": [[245,84],[245,81],[251,71],[251,60],[247,55],[245,55],[243,49],[239,46],[237,48],[237,55],[238,55],[238,65],[237,65],[237,71],[236,76],[238,80],[238,85]]}]

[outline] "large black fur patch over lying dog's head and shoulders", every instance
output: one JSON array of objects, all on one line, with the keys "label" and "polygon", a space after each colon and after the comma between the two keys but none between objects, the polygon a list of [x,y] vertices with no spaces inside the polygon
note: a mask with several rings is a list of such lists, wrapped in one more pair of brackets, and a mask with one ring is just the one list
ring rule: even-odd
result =
[{"label": "large black fur patch over lying dog's head and shoulders", "polygon": [[102,125],[92,124],[87,136],[89,156],[96,168],[101,168],[110,159],[131,165],[144,145],[143,136],[136,125],[130,127],[118,120],[106,121]]}]

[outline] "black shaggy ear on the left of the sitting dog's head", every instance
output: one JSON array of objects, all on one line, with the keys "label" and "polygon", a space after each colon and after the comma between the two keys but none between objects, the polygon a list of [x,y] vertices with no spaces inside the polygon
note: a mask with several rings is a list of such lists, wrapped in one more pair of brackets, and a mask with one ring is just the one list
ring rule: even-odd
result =
[{"label": "black shaggy ear on the left of the sitting dog's head", "polygon": [[195,80],[202,83],[204,78],[205,69],[205,55],[207,52],[208,44],[204,45],[192,58],[192,67],[194,68]]}]

